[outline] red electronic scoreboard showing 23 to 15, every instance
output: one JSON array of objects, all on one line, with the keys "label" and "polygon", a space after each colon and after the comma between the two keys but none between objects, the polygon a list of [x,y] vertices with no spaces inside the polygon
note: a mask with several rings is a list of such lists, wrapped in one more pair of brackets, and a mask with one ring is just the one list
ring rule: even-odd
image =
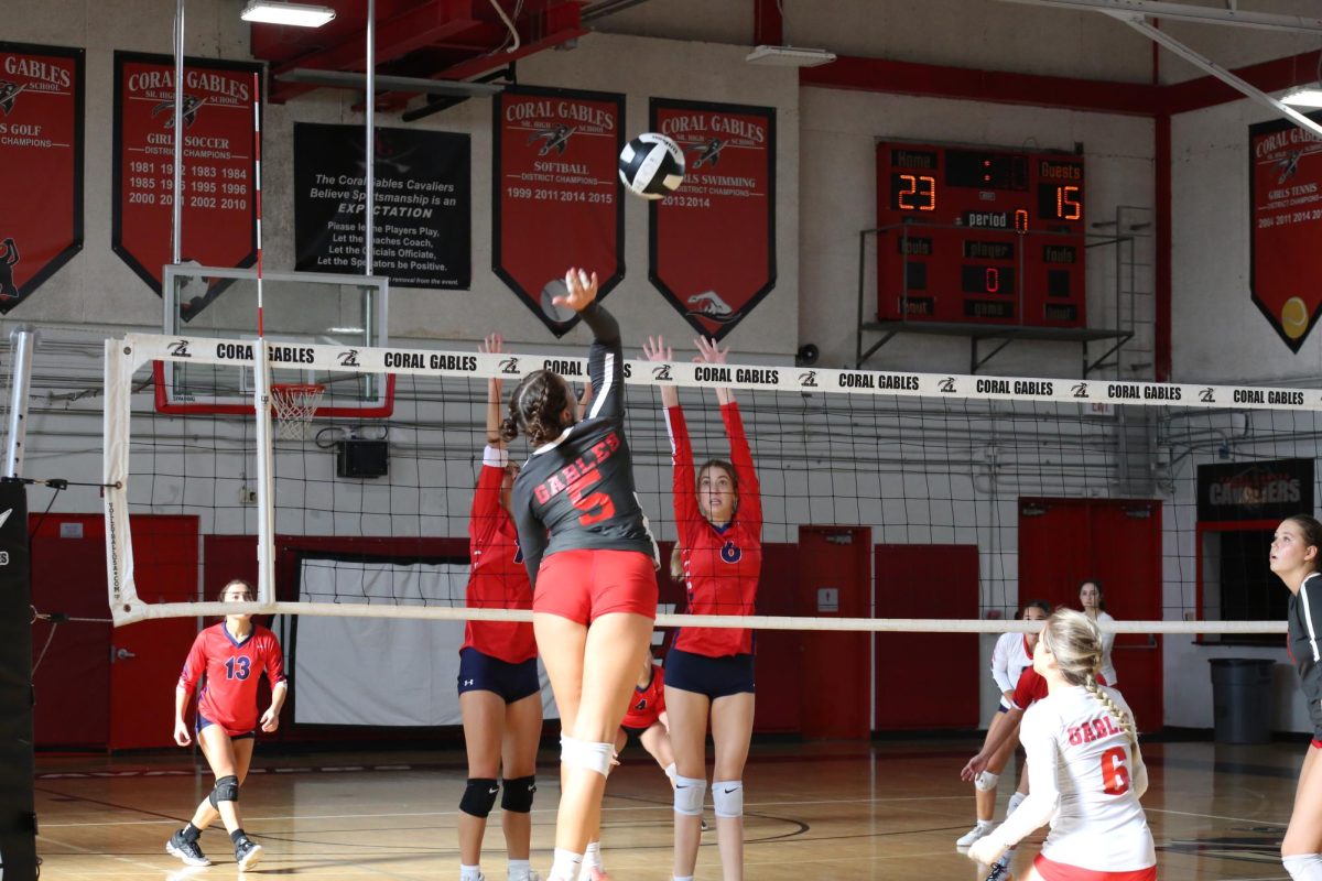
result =
[{"label": "red electronic scoreboard showing 23 to 15", "polygon": [[876,317],[1081,328],[1083,157],[876,145]]}]

